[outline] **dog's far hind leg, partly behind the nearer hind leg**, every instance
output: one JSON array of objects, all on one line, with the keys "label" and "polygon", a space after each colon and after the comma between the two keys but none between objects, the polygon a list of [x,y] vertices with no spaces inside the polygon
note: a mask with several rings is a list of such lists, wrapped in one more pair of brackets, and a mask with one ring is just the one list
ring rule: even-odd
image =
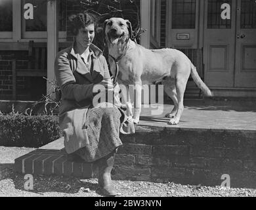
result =
[{"label": "dog's far hind leg, partly behind the nearer hind leg", "polygon": [[169,77],[168,79],[163,81],[163,90],[165,93],[173,100],[174,108],[171,111],[171,113],[167,113],[165,117],[175,117],[177,110],[178,110],[178,99],[177,99],[177,93],[175,88],[175,79]]}]

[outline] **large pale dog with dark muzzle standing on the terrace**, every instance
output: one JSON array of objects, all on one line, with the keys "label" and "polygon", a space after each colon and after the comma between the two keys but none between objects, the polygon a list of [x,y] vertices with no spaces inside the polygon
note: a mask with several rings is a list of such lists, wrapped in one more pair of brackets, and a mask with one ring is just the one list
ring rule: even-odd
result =
[{"label": "large pale dog with dark muzzle standing on the terrace", "polygon": [[[203,83],[190,59],[176,49],[146,49],[131,39],[129,20],[110,18],[104,22],[104,33],[108,46],[108,60],[114,80],[120,85],[134,85],[137,102],[141,104],[142,85],[161,82],[163,90],[173,100],[173,110],[165,117],[171,118],[169,125],[177,125],[184,110],[183,98],[190,74],[204,95],[213,96]],[[118,72],[117,72],[118,71]],[[126,98],[127,99],[127,98]],[[139,123],[141,106],[131,107],[127,100],[127,116]]]}]

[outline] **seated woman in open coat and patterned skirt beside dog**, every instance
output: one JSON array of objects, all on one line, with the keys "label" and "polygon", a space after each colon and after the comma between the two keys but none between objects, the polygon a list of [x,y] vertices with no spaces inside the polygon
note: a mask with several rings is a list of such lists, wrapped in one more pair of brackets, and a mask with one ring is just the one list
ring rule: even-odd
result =
[{"label": "seated woman in open coat and patterned skirt beside dog", "polygon": [[134,133],[134,125],[127,126],[127,116],[116,107],[93,106],[98,93],[95,85],[113,91],[108,65],[102,51],[92,43],[93,16],[83,12],[70,20],[75,41],[57,54],[54,69],[62,91],[59,123],[64,146],[68,154],[77,154],[86,162],[96,161],[100,188],[106,196],[116,196],[110,173],[117,148],[122,145],[119,131]]}]

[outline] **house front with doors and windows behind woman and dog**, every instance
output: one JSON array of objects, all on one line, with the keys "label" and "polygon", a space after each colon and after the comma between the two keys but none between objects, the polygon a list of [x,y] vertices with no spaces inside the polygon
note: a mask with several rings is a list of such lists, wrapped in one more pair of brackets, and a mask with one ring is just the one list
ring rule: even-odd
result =
[{"label": "house front with doors and windows behind woman and dog", "polygon": [[[129,2],[121,0],[122,4]],[[186,53],[216,96],[256,96],[255,0],[135,3],[136,7],[127,9],[130,13],[125,18],[139,15],[139,26],[146,29],[140,38],[142,46],[171,47]],[[54,79],[54,56],[72,42],[67,17],[80,9],[77,0],[1,0],[0,100],[35,100],[51,91],[51,84],[42,75]],[[32,48],[28,44],[31,41]],[[20,51],[18,45],[23,46]],[[28,62],[28,57],[33,61]],[[19,71],[26,68],[40,71]],[[187,90],[193,89],[194,83],[188,83]]]}]

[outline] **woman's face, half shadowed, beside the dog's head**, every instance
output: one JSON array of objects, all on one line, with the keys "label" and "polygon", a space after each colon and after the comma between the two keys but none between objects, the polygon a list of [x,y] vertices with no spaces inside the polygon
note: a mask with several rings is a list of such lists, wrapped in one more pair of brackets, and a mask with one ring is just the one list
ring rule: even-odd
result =
[{"label": "woman's face, half shadowed, beside the dog's head", "polygon": [[80,28],[78,30],[78,34],[75,36],[75,41],[77,42],[77,45],[87,48],[93,42],[94,37],[95,25],[90,24],[88,26],[85,26],[85,28]]}]

